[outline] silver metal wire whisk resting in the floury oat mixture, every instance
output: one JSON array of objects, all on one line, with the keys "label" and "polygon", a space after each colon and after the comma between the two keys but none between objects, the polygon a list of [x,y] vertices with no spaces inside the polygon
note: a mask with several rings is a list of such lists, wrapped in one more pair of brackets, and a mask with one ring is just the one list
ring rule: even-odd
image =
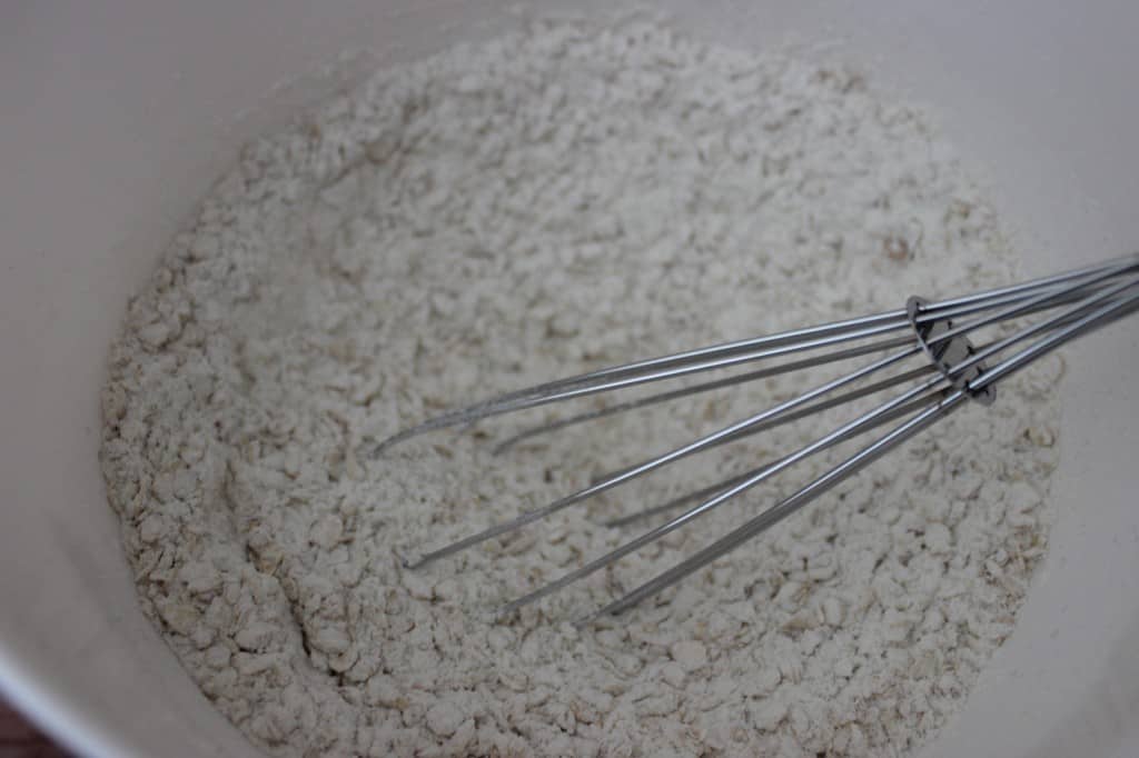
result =
[{"label": "silver metal wire whisk resting in the floury oat mixture", "polygon": [[[837,379],[826,381],[796,397],[738,420],[675,450],[603,476],[588,487],[554,500],[547,505],[523,511],[510,520],[424,552],[413,560],[405,559],[404,567],[416,569],[452,555],[538,521],[556,511],[577,505],[680,459],[746,435],[767,431],[796,419],[886,390],[895,392],[893,397],[872,410],[776,461],[763,463],[716,485],[647,511],[611,521],[612,526],[624,526],[646,516],[673,512],[681,506],[696,503],[679,516],[670,518],[620,547],[587,561],[580,568],[499,609],[501,613],[509,613],[562,590],[670,532],[690,524],[694,519],[796,463],[839,443],[867,437],[868,440],[861,450],[826,473],[655,578],[580,619],[579,624],[588,624],[605,613],[618,613],[756,537],[838,483],[958,410],[966,402],[973,401],[985,405],[992,403],[997,386],[1005,378],[1065,343],[1116,321],[1137,308],[1139,308],[1139,254],[1132,254],[1097,265],[950,299],[931,302],[910,297],[906,307],[898,311],[591,371],[444,413],[386,439],[379,444],[377,453],[416,435],[448,427],[467,426],[489,417],[548,403],[736,366],[748,369],[743,373],[681,386],[538,426],[501,443],[497,448],[501,451],[522,439],[613,413],[822,364],[853,361],[859,357],[870,359]],[[998,333],[991,336],[988,341],[975,344],[974,340],[978,335],[993,331]],[[910,365],[912,363],[917,365]],[[870,434],[899,420],[900,422],[885,434],[877,437]]]}]

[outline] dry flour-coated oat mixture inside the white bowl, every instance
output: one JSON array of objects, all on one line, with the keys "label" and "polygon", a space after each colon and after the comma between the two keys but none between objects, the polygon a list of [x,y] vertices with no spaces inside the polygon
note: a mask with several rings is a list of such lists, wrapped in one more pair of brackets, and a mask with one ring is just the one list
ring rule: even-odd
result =
[{"label": "dry flour-coated oat mixture inside the white bowl", "polygon": [[[837,415],[416,572],[437,546],[784,399],[802,374],[542,437],[375,442],[456,403],[1014,278],[921,113],[810,57],[535,24],[384,71],[251,145],[130,306],[103,462],[145,611],[279,756],[904,753],[1046,549],[1052,357],[615,623],[812,462],[519,616],[489,610]],[[825,376],[823,373],[818,374]],[[590,401],[592,402],[592,401]],[[588,404],[588,403],[587,403]]]}]

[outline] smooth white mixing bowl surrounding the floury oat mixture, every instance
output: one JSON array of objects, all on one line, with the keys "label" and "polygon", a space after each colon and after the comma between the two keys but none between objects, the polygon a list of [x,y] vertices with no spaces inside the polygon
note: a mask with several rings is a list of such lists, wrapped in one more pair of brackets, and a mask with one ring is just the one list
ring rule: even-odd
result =
[{"label": "smooth white mixing bowl surrounding the floury oat mixture", "polygon": [[[991,174],[1026,273],[1139,246],[1139,3],[663,6],[735,46],[839,41],[936,105]],[[80,753],[256,755],[139,612],[104,497],[97,398],[129,293],[244,140],[337,86],[320,64],[482,39],[521,7],[0,6],[0,693]],[[1132,320],[1068,352],[1051,551],[929,755],[1139,755],[1137,338]]]}]

